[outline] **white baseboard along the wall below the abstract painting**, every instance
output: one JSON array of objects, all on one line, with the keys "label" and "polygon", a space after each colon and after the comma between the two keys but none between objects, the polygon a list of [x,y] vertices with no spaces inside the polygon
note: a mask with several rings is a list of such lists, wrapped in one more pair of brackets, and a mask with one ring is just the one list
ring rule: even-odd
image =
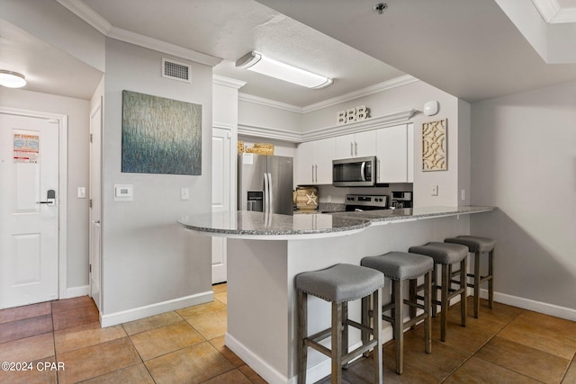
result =
[{"label": "white baseboard along the wall below the abstract painting", "polygon": [[198,304],[208,303],[214,300],[214,292],[208,290],[184,298],[166,300],[139,308],[131,308],[121,312],[115,312],[100,317],[100,325],[116,326],[128,321],[139,320],[140,318],[158,315],[175,309],[192,307]]}]

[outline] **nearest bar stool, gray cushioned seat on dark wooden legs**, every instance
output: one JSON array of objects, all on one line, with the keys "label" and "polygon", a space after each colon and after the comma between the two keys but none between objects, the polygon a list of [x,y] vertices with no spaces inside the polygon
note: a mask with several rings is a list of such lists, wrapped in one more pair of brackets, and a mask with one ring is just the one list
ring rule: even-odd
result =
[{"label": "nearest bar stool, gray cushioned seat on dark wooden legs", "polygon": [[[332,359],[332,383],[342,380],[342,366],[374,348],[374,380],[383,382],[382,320],[374,321],[374,326],[359,324],[348,318],[348,301],[368,300],[372,295],[377,318],[382,317],[382,294],[384,276],[381,272],[360,265],[336,264],[321,271],[303,272],[296,276],[298,308],[298,383],[306,382],[307,347],[314,348]],[[374,295],[373,295],[374,293]],[[308,332],[308,295],[316,296],[332,303],[332,326],[314,335]],[[359,328],[374,337],[348,353],[348,326]],[[331,348],[320,344],[331,336]],[[365,343],[364,343],[365,342]]]}]

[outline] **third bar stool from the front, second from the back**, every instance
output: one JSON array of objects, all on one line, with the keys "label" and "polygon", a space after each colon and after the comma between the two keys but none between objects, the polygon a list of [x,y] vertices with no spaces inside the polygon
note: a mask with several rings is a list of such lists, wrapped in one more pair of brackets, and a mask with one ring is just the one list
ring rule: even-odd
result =
[{"label": "third bar stool from the front, second from the back", "polygon": [[[440,304],[440,340],[446,341],[447,312],[450,300],[460,295],[460,316],[462,326],[466,326],[466,270],[468,248],[459,244],[431,242],[425,246],[410,246],[410,253],[427,255],[434,259],[434,273],[432,274],[432,316],[436,317],[436,306]],[[452,264],[460,263],[459,288],[452,289]],[[442,281],[437,284],[437,265],[442,266]],[[463,281],[464,279],[464,281]],[[437,299],[437,290],[441,290],[440,300]]]}]

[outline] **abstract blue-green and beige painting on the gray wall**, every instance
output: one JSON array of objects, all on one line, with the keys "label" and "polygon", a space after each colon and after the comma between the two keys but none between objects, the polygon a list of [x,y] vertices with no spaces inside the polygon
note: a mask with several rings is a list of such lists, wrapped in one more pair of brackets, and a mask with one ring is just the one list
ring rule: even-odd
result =
[{"label": "abstract blue-green and beige painting on the gray wall", "polygon": [[202,105],[122,91],[121,172],[202,174]]}]

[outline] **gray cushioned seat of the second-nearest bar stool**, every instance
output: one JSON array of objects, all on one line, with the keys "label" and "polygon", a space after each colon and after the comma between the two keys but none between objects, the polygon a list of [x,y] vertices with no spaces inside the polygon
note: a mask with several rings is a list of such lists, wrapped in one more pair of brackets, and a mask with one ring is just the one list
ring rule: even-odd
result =
[{"label": "gray cushioned seat of the second-nearest bar stool", "polygon": [[407,252],[390,252],[382,256],[365,257],[361,264],[383,272],[392,280],[416,279],[434,269],[432,258]]}]

